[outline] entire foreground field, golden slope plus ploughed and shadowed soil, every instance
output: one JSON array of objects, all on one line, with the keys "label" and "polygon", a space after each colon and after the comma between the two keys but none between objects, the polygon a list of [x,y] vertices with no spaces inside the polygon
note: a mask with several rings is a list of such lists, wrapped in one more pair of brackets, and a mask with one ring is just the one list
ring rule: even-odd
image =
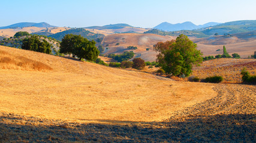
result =
[{"label": "entire foreground field, golden slope plus ploughed and shadowed soil", "polygon": [[255,86],[159,80],[6,46],[0,59],[3,142],[254,141]]}]

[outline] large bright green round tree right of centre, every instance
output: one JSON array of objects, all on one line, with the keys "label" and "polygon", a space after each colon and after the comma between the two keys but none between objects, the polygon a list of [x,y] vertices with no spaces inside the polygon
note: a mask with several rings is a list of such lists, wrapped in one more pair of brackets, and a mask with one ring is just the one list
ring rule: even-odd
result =
[{"label": "large bright green round tree right of centre", "polygon": [[186,35],[179,35],[176,41],[157,43],[154,46],[159,66],[165,73],[174,76],[189,76],[192,72],[192,65],[200,66],[203,61],[200,50],[196,49],[197,44],[188,39]]}]

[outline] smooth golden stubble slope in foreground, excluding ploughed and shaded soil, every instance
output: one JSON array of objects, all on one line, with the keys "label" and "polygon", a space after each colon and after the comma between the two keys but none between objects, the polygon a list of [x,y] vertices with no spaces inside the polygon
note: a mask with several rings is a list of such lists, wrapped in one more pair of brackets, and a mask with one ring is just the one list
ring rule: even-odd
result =
[{"label": "smooth golden stubble slope in foreground, excluding ploughed and shaded soil", "polygon": [[5,46],[0,50],[52,67],[48,72],[0,69],[0,111],[5,113],[76,122],[151,122],[216,96],[213,84],[158,80],[148,73]]}]

